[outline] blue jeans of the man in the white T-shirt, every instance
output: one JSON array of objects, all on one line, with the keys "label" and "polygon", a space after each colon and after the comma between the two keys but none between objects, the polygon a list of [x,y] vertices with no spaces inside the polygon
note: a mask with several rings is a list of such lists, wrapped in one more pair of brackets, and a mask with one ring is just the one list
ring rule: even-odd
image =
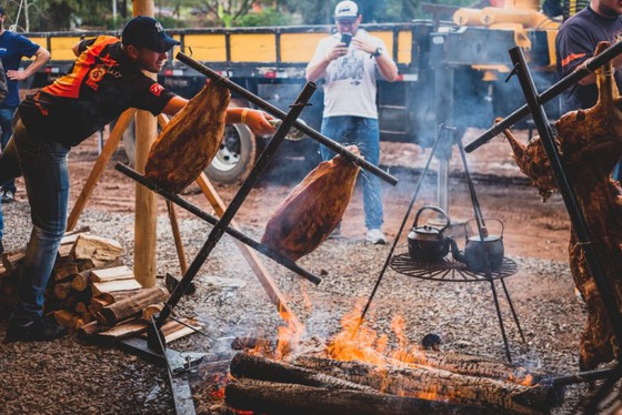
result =
[{"label": "blue jeans of the man in the white T-shirt", "polygon": [[[328,117],[322,119],[322,134],[341,145],[354,144],[361,155],[370,163],[378,165],[380,161],[380,130],[378,120],[362,117]],[[335,153],[320,145],[322,160],[332,159]],[[380,179],[362,170],[363,208],[365,212],[365,227],[380,229],[384,222],[382,215],[382,193]]]}]

